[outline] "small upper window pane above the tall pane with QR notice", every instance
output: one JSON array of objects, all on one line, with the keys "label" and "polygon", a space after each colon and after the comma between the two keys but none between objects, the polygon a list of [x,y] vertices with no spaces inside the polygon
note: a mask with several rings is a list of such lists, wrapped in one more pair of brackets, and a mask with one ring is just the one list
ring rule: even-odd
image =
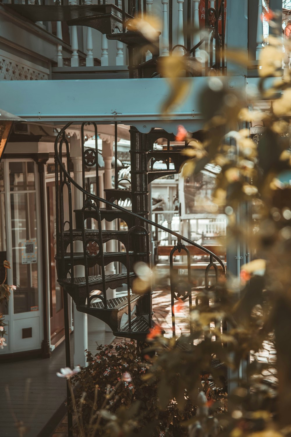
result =
[{"label": "small upper window pane above the tall pane with QR notice", "polygon": [[35,163],[10,162],[9,178],[10,191],[23,191],[35,189]]}]

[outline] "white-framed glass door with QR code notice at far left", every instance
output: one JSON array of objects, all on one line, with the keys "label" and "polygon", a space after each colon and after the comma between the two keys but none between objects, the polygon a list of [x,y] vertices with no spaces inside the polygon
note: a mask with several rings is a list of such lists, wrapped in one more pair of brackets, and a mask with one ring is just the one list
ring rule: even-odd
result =
[{"label": "white-framed glass door with QR code notice at far left", "polygon": [[7,279],[16,287],[9,300],[9,348],[3,353],[11,353],[40,349],[43,338],[40,198],[33,160],[3,160],[3,169],[7,260],[11,266]]}]

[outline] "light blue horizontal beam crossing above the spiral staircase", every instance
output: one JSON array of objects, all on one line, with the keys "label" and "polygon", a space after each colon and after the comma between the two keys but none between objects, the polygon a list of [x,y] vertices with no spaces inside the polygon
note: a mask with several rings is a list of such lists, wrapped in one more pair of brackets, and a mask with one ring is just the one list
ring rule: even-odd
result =
[{"label": "light blue horizontal beam crossing above the spiral staircase", "polygon": [[[244,89],[245,77],[221,77],[231,88]],[[202,128],[198,96],[210,77],[184,78],[188,93],[170,114],[161,108],[170,94],[167,79],[1,81],[2,107],[27,121],[115,121],[134,125],[140,132],[152,127],[177,132]]]}]

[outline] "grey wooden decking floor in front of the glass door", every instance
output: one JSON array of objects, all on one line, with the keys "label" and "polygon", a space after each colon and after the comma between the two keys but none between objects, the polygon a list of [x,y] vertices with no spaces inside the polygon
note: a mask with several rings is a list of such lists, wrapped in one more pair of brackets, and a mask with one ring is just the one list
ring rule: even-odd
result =
[{"label": "grey wooden decking floor in front of the glass door", "polygon": [[[109,344],[114,339],[112,333],[104,333],[97,319],[88,316],[88,349],[94,353],[96,341]],[[73,356],[73,334],[71,335]],[[59,345],[49,359],[32,359],[15,363],[3,363],[1,369],[1,421],[0,437],[19,437],[15,417],[28,427],[25,437],[43,437],[43,428],[66,399],[66,381],[56,376],[65,367],[65,344]],[[30,385],[27,389],[28,379]],[[9,393],[13,412],[7,404],[5,386]]]}]

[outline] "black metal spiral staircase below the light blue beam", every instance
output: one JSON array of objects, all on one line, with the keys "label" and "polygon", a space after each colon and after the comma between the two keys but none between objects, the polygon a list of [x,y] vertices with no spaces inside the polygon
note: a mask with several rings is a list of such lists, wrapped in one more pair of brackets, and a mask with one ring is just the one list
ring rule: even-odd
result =
[{"label": "black metal spiral staircase below the light blue beam", "polygon": [[[173,316],[173,335],[175,335],[175,299],[189,301],[189,310],[192,309],[192,289],[190,254],[182,244],[184,242],[201,249],[208,254],[210,262],[205,268],[205,287],[203,292],[208,294],[209,271],[215,271],[215,281],[218,279],[218,267],[221,274],[225,274],[225,266],[222,260],[208,249],[187,239],[186,237],[167,229],[148,218],[148,184],[152,180],[173,173],[179,173],[182,164],[187,159],[179,150],[170,149],[170,140],[173,135],[161,129],[154,129],[149,134],[140,134],[135,128],[131,128],[131,175],[132,189],[124,190],[118,188],[118,180],[115,180],[115,188],[105,190],[106,198],[98,194],[91,194],[85,188],[85,171],[94,167],[96,181],[98,181],[97,162],[97,126],[95,128],[96,148],[86,149],[82,141],[82,169],[83,186],[80,186],[66,170],[63,160],[66,161],[67,169],[70,168],[69,142],[66,138],[66,125],[59,132],[55,140],[55,186],[56,186],[56,230],[57,250],[56,264],[58,282],[62,286],[65,295],[69,294],[76,303],[78,311],[90,314],[103,320],[112,329],[115,336],[126,337],[135,340],[145,340],[149,330],[155,328],[152,320],[152,291],[150,283],[145,293],[132,293],[132,284],[136,277],[134,265],[137,261],[149,264],[149,225],[162,229],[177,238],[177,245],[170,254],[170,289]],[[82,134],[85,123],[82,125]],[[115,125],[115,129],[117,126]],[[117,132],[115,130],[115,132]],[[167,138],[168,146],[165,150],[154,150],[153,144],[158,138]],[[63,153],[65,146],[65,153]],[[166,170],[153,169],[156,161],[163,160]],[[117,162],[115,160],[115,162]],[[174,170],[170,169],[173,163]],[[117,172],[115,172],[117,173]],[[82,193],[83,207],[72,208],[72,188]],[[68,197],[69,211],[64,211],[64,197]],[[122,198],[131,198],[134,211],[122,208],[118,203]],[[100,202],[106,207],[100,208]],[[67,217],[65,217],[65,214]],[[88,223],[91,219],[91,227]],[[92,219],[96,226],[92,225]],[[127,224],[128,230],[106,230],[104,222],[121,219]],[[96,229],[94,229],[96,228]],[[118,240],[125,248],[124,252],[106,252],[104,244]],[[82,250],[76,251],[76,242],[82,243]],[[79,243],[80,245],[80,243]],[[173,274],[173,256],[176,251],[185,250],[187,255],[187,275],[177,276]],[[119,262],[126,267],[125,273],[106,274],[105,266],[112,262]],[[216,261],[216,262],[214,262]],[[83,266],[83,275],[76,276],[74,268]],[[98,274],[90,272],[93,267],[99,266]],[[150,281],[149,281],[150,282]],[[117,298],[107,298],[108,288],[116,289],[121,284],[127,284],[127,295]],[[135,308],[135,314],[133,310]],[[127,314],[126,323],[121,325],[121,318]]]}]

